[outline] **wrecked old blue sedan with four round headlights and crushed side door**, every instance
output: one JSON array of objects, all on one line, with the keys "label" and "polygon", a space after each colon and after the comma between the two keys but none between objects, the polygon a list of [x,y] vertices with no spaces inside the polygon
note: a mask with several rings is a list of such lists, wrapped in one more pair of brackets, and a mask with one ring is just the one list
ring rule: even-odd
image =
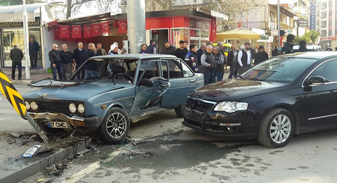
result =
[{"label": "wrecked old blue sedan with four round headlights and crushed side door", "polygon": [[96,132],[104,141],[117,143],[130,123],[181,106],[187,95],[203,86],[179,58],[163,54],[119,54],[91,57],[86,65],[98,67],[99,77],[75,80],[43,79],[30,84],[42,89],[23,95],[31,117],[44,132],[77,129]]}]

